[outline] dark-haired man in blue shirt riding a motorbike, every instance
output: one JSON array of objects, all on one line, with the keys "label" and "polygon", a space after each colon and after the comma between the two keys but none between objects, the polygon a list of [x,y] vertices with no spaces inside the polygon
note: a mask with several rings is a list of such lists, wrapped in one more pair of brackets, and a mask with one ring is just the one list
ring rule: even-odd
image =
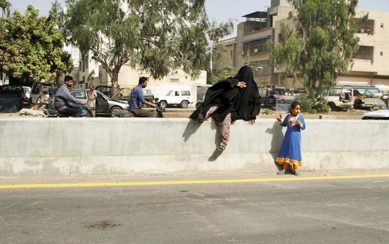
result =
[{"label": "dark-haired man in blue shirt riding a motorbike", "polygon": [[155,108],[155,104],[144,100],[142,89],[147,86],[148,78],[141,77],[139,78],[139,84],[134,87],[130,95],[130,107],[129,111],[133,113],[136,117],[157,117],[157,113],[141,109],[142,104],[150,105]]}]

